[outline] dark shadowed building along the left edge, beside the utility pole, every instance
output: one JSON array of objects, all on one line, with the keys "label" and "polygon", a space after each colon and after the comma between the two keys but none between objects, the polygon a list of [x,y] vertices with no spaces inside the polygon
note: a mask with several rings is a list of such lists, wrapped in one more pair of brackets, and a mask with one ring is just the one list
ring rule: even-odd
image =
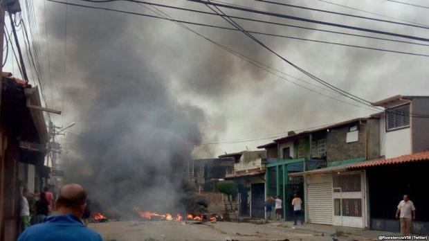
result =
[{"label": "dark shadowed building along the left edge, beside the utility pole", "polygon": [[0,121],[0,240],[19,233],[24,188],[42,190],[49,178],[44,166],[48,133],[37,87],[2,73]]}]

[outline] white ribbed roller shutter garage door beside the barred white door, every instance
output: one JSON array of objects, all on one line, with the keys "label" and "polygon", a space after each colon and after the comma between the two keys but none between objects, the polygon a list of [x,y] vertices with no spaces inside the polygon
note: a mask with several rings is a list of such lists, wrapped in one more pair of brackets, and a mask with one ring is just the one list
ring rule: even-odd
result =
[{"label": "white ribbed roller shutter garage door beside the barred white door", "polygon": [[332,183],[309,183],[307,206],[309,223],[332,224]]}]

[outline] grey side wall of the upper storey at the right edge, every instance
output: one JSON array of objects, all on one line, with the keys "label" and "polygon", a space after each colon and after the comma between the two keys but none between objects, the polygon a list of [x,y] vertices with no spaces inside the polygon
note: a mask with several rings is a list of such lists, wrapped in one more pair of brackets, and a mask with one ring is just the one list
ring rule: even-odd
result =
[{"label": "grey side wall of the upper storey at the right edge", "polygon": [[[429,98],[412,98],[412,113],[429,115]],[[411,118],[412,152],[429,149],[429,118]]]}]

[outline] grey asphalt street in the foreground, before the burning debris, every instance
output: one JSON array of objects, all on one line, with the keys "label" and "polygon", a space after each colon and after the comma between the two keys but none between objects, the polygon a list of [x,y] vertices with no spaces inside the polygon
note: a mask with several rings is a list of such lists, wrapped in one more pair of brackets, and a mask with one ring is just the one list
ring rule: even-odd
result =
[{"label": "grey asphalt street in the foreground, before the burning debris", "polygon": [[[89,228],[102,235],[104,241],[155,241],[155,240],[329,240],[328,233],[294,229],[276,224],[250,224],[236,222],[206,222],[186,224],[176,221],[118,221],[90,224]],[[336,237],[338,240],[367,240]]]}]

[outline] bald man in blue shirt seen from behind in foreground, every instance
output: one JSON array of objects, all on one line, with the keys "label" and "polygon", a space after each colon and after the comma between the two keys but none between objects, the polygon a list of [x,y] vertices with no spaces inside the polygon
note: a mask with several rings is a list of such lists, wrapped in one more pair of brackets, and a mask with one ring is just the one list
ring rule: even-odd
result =
[{"label": "bald man in blue shirt seen from behind in foreground", "polygon": [[55,206],[58,215],[48,216],[42,224],[30,226],[19,235],[18,241],[102,241],[80,220],[86,206],[86,193],[82,186],[67,184],[60,188]]}]

